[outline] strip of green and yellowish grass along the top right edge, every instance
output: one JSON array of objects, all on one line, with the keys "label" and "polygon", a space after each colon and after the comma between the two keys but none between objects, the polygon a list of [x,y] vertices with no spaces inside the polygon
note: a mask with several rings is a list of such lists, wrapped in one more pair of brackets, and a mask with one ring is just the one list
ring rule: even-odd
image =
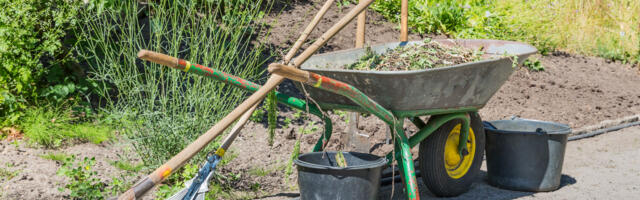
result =
[{"label": "strip of green and yellowish grass along the top right edge", "polygon": [[[372,9],[399,21],[400,0]],[[640,1],[418,0],[409,1],[414,33],[453,38],[523,41],[542,54],[556,50],[611,60],[640,60]]]}]

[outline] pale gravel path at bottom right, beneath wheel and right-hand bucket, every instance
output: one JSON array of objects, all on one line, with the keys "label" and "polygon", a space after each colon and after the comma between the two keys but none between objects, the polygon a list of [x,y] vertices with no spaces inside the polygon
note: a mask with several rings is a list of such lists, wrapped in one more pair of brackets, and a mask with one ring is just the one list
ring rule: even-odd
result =
[{"label": "pale gravel path at bottom right, beneath wheel and right-hand bucket", "polygon": [[[553,192],[517,192],[487,184],[486,165],[471,190],[451,199],[637,199],[640,196],[640,126],[569,142],[562,187]],[[419,178],[420,179],[420,178]],[[383,187],[380,199],[389,199]],[[404,199],[396,184],[393,199]],[[422,199],[436,199],[420,184]]]}]

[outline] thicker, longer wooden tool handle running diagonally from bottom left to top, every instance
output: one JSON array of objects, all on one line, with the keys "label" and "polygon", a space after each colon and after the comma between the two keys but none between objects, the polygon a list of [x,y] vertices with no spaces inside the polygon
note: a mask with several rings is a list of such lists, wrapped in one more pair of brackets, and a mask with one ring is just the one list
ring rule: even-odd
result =
[{"label": "thicker, longer wooden tool handle running diagonally from bottom left to top", "polygon": [[[322,34],[322,36],[318,38],[316,42],[311,44],[311,46],[307,48],[304,52],[302,52],[301,55],[296,57],[295,66],[299,67],[300,65],[302,65],[304,61],[306,61],[313,53],[315,53],[320,48],[320,46],[324,45],[331,37],[333,37],[338,31],[344,28],[344,26],[346,26],[351,20],[353,20],[353,18],[355,18],[357,14],[362,12],[372,2],[373,0],[365,0],[363,1],[362,4],[359,4],[355,8],[351,9],[351,11],[349,11],[349,13],[347,13],[342,19],[340,19],[340,21],[334,24],[327,32]],[[142,54],[146,55],[144,53]],[[158,62],[159,64],[166,64],[169,67],[175,67],[175,65],[171,64],[171,62],[166,62],[171,60],[169,59],[171,58],[170,56],[168,58],[167,57],[162,57],[162,58],[164,59],[159,59],[160,61],[162,61],[162,63]],[[150,60],[150,61],[153,61],[153,60]],[[229,113],[226,117],[218,121],[218,123],[216,123],[213,127],[211,127],[211,129],[209,129],[206,133],[198,137],[195,141],[193,141],[186,148],[180,151],[180,153],[173,156],[165,164],[160,166],[158,169],[153,171],[147,177],[143,178],[138,183],[136,183],[132,188],[130,188],[125,193],[120,195],[118,199],[132,200],[132,199],[135,199],[136,197],[141,197],[142,195],[144,195],[147,191],[153,188],[153,186],[162,182],[166,177],[168,177],[173,170],[178,169],[179,167],[184,165],[185,162],[191,159],[196,153],[198,153],[200,150],[202,150],[202,148],[204,148],[207,144],[209,144],[209,142],[211,142],[218,135],[220,135],[222,131],[224,131],[227,127],[229,127],[229,125],[231,125],[233,121],[238,119],[240,115],[244,114],[245,112],[247,112],[247,110],[249,110],[249,108],[253,107],[259,101],[264,99],[264,97],[269,92],[271,92],[271,90],[273,90],[278,84],[280,84],[283,80],[284,80],[284,77],[277,74],[272,74],[269,77],[269,79],[267,79],[267,82],[262,87],[260,87],[260,89],[258,89],[258,91],[253,93],[247,100],[245,100],[238,107],[233,109],[231,113]]]}]

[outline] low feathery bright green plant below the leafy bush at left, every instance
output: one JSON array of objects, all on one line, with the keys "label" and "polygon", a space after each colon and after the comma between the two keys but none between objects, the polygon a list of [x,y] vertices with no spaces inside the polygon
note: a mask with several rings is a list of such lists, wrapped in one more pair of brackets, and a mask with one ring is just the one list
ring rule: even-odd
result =
[{"label": "low feathery bright green plant below the leafy bush at left", "polygon": [[47,148],[69,142],[102,143],[113,138],[113,129],[104,124],[78,122],[70,110],[62,107],[42,106],[29,109],[20,128],[31,144]]}]

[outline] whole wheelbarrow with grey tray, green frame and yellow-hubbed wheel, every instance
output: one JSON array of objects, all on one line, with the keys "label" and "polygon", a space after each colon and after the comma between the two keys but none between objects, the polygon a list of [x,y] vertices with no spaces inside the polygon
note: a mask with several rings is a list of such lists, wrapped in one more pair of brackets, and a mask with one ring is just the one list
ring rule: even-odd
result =
[{"label": "whole wheelbarrow with grey tray, green frame and yellow-hubbed wheel", "polygon": [[[466,192],[480,170],[485,135],[478,110],[504,84],[516,66],[536,53],[530,45],[499,40],[436,40],[482,50],[483,59],[453,66],[412,71],[356,71],[340,66],[364,55],[363,48],[319,54],[309,58],[302,69],[271,64],[269,71],[310,85],[307,91],[323,110],[350,110],[370,113],[387,123],[393,132],[395,149],[386,157],[396,161],[409,199],[417,199],[418,183],[410,149],[420,145],[419,167],[423,182],[437,196]],[[421,41],[372,46],[383,53]],[[240,77],[190,64],[180,59],[177,69],[195,73],[245,89],[261,86]],[[342,81],[339,81],[342,80]],[[300,85],[299,85],[300,86]],[[316,104],[276,92],[279,103],[308,110],[324,122],[324,132],[313,151],[322,151],[331,137],[332,123]],[[430,116],[423,121],[421,116]],[[404,119],[420,130],[408,136]],[[395,153],[395,154],[394,154]]]}]

